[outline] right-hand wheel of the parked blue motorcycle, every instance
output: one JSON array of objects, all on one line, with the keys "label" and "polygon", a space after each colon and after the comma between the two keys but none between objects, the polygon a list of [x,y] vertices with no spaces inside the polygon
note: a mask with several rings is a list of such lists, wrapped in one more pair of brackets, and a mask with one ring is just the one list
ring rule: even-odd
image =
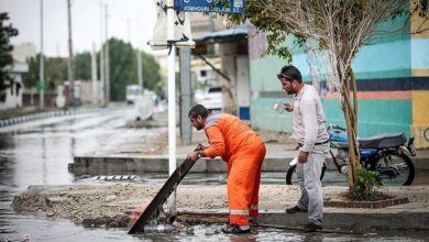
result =
[{"label": "right-hand wheel of the parked blue motorcycle", "polygon": [[373,165],[378,172],[378,182],[384,186],[408,186],[415,177],[411,158],[398,151],[387,151]]}]

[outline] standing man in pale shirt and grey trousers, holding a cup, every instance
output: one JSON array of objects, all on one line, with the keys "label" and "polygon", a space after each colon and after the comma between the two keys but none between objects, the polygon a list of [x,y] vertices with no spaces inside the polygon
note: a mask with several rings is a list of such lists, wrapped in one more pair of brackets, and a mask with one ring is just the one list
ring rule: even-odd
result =
[{"label": "standing man in pale shirt and grey trousers, holding a cup", "polygon": [[285,103],[286,111],[294,112],[293,136],[298,142],[299,155],[296,167],[301,190],[298,205],[286,209],[287,213],[308,212],[309,223],[305,232],[322,229],[323,198],[320,174],[329,148],[323,107],[317,90],[302,82],[295,66],[284,66],[277,78],[282,88],[294,96],[294,103]]}]

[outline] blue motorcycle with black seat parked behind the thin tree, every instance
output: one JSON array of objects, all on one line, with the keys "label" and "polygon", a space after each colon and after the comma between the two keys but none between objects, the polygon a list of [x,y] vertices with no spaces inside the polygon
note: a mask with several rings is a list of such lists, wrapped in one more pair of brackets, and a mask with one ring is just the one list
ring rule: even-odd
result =
[{"label": "blue motorcycle with black seat parked behind the thin tree", "polygon": [[[349,163],[349,142],[346,130],[331,124],[328,127],[332,162],[337,170],[346,176]],[[413,156],[416,156],[414,138],[408,140],[405,133],[384,133],[375,136],[358,139],[362,167],[378,173],[377,182],[385,186],[407,186],[415,177]],[[286,174],[286,184],[297,184],[296,162],[290,162]],[[320,179],[327,170],[323,163]]]}]

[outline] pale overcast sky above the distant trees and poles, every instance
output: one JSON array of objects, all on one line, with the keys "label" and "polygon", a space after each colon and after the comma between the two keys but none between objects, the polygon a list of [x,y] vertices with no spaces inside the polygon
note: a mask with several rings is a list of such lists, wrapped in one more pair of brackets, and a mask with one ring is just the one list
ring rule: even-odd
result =
[{"label": "pale overcast sky above the distant trees and poles", "polygon": [[[101,4],[108,6],[108,35],[131,42],[134,47],[150,51],[145,44],[152,37],[156,21],[153,0],[72,0],[72,35],[74,53],[100,48],[105,29],[101,26]],[[0,12],[8,12],[19,30],[12,44],[32,42],[40,52],[41,0],[0,0]],[[105,7],[102,10],[105,14]],[[105,15],[102,15],[105,22]],[[105,23],[102,23],[105,24]],[[68,55],[67,0],[43,0],[44,53],[47,56]],[[101,32],[102,31],[102,32]]]}]

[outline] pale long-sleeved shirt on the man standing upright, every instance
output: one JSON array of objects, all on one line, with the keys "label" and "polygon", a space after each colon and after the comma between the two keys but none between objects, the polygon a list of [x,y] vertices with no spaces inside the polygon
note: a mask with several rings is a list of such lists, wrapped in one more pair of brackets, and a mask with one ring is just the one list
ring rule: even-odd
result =
[{"label": "pale long-sleeved shirt on the man standing upright", "polygon": [[329,140],[323,107],[319,94],[311,85],[304,85],[294,99],[293,136],[302,144],[300,151],[310,152],[315,143]]}]

